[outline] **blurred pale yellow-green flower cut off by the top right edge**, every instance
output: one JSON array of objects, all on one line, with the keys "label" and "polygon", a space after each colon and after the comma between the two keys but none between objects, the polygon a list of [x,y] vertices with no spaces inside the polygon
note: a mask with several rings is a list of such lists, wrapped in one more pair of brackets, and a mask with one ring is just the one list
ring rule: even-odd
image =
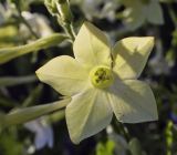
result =
[{"label": "blurred pale yellow-green flower cut off by the top right edge", "polygon": [[145,22],[163,24],[163,11],[158,0],[121,0],[126,9],[123,12],[129,30],[142,27]]}]

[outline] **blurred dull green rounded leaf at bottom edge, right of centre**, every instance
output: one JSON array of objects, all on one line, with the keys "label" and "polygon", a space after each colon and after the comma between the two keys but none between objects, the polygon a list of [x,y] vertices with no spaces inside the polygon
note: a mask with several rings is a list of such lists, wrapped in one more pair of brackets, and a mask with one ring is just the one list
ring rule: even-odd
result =
[{"label": "blurred dull green rounded leaf at bottom edge, right of centre", "polygon": [[137,138],[132,138],[128,145],[132,155],[143,155],[140,143]]}]

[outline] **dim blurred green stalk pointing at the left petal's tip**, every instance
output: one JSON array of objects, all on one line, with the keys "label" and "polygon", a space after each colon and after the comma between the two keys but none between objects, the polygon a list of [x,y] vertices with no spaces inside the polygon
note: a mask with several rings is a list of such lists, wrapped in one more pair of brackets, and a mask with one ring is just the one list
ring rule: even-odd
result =
[{"label": "dim blurred green stalk pointing at the left petal's tip", "polygon": [[37,81],[35,75],[28,76],[3,76],[0,78],[0,86],[14,86],[18,84],[31,83]]}]

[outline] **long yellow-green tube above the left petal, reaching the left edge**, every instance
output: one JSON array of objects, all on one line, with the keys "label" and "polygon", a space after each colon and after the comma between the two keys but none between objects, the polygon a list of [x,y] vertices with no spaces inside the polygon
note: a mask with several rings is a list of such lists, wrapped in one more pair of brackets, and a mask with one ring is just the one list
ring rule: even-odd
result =
[{"label": "long yellow-green tube above the left petal, reaching the left edge", "polygon": [[35,42],[25,45],[0,49],[0,64],[6,63],[18,56],[28,54],[30,52],[37,52],[39,50],[56,45],[62,41],[64,41],[65,39],[66,39],[65,35],[54,33],[51,34],[50,37],[39,39]]}]

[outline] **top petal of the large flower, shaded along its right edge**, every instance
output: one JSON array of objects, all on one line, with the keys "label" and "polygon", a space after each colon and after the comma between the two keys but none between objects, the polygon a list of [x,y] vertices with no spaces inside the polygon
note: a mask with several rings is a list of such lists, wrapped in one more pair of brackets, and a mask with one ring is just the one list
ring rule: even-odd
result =
[{"label": "top petal of the large flower, shaded along its right edge", "polygon": [[74,41],[76,60],[87,66],[111,65],[111,49],[105,34],[88,22],[84,22]]}]

